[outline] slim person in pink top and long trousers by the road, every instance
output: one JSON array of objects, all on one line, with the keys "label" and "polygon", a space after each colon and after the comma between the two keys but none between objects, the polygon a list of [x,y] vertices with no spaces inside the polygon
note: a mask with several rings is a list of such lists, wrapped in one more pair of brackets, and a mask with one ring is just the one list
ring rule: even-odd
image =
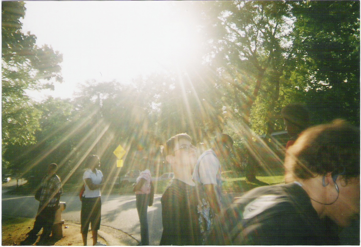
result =
[{"label": "slim person in pink top and long trousers by the road", "polygon": [[138,211],[140,221],[140,241],[139,245],[149,245],[149,232],[148,232],[148,204],[149,195],[151,193],[151,172],[149,170],[149,161],[144,157],[139,162],[139,168],[143,170],[139,177],[136,179],[136,184],[133,188],[136,198],[136,209]]}]

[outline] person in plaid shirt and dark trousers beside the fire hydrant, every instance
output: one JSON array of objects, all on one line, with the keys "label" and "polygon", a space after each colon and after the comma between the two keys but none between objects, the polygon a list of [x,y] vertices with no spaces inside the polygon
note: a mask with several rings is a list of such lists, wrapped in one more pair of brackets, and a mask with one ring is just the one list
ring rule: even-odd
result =
[{"label": "person in plaid shirt and dark trousers beside the fire hydrant", "polygon": [[40,200],[38,213],[35,218],[33,229],[28,233],[29,237],[37,238],[36,234],[43,228],[40,239],[46,239],[51,234],[51,227],[55,220],[55,213],[59,208],[60,195],[62,193],[60,178],[55,174],[57,164],[49,165],[48,173],[40,185]]}]

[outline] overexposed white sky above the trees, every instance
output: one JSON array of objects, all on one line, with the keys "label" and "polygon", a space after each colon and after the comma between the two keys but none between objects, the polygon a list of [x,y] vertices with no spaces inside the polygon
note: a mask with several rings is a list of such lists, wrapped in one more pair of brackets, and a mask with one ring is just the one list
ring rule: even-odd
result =
[{"label": "overexposed white sky above the trees", "polygon": [[[63,83],[30,95],[71,97],[87,80],[129,82],[191,59],[199,45],[188,1],[25,1],[23,32],[63,54]],[[180,8],[182,7],[183,8]]]}]

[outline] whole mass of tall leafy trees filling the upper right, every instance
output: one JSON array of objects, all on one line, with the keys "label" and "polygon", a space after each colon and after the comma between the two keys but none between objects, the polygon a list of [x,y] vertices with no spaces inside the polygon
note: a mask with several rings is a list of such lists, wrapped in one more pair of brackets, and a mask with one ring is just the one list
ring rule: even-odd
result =
[{"label": "whole mass of tall leafy trees filling the upper right", "polygon": [[303,102],[318,116],[316,122],[335,117],[359,122],[359,2],[195,5],[208,35],[208,61],[230,96],[224,103],[233,121],[270,134],[283,128],[278,115],[284,105]]}]

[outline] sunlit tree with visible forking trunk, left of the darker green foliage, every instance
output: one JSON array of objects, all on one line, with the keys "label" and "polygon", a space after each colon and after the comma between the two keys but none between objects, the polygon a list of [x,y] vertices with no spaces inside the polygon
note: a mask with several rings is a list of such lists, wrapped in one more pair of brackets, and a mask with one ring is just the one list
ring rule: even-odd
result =
[{"label": "sunlit tree with visible forking trunk, left of the darker green foliage", "polygon": [[[220,81],[232,115],[250,125],[259,117],[252,109],[262,101],[264,123],[260,133],[274,130],[273,112],[284,69],[291,60],[292,12],[284,1],[219,1],[205,3],[205,23],[212,44],[211,63],[221,72]],[[267,103],[266,103],[267,102]],[[259,120],[257,120],[259,121]]]}]

